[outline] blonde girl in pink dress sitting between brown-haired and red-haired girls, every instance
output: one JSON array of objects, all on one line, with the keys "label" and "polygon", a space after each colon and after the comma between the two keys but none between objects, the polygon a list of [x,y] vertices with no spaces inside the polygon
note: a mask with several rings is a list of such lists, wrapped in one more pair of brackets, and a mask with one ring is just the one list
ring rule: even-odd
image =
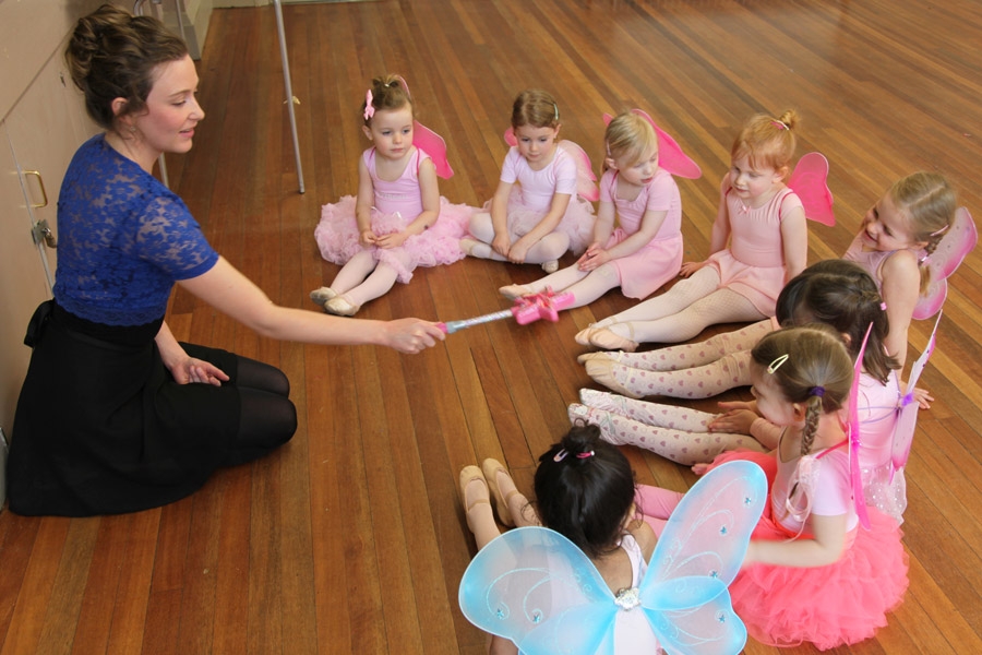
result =
[{"label": "blonde girl in pink dress sitting between brown-haired and red-haired girls", "polygon": [[582,307],[620,286],[628,298],[643,299],[679,274],[682,199],[672,175],[659,167],[654,126],[627,111],[608,123],[603,139],[607,157],[589,248],[574,265],[534,284],[502,287],[506,298],[551,288],[573,294],[570,307]]}]

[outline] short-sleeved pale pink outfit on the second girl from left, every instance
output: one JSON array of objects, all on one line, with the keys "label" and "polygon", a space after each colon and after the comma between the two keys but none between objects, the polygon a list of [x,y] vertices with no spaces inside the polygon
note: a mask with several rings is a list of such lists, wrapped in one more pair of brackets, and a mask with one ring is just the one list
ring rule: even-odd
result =
[{"label": "short-sleeved pale pink outfit on the second girl from left", "polygon": [[[513,184],[508,195],[508,236],[512,240],[527,235],[549,213],[552,196],[572,195],[566,213],[556,228],[570,237],[570,250],[579,254],[594,236],[594,205],[576,194],[579,169],[576,159],[556,146],[552,162],[541,170],[532,170],[528,162],[512,147],[501,167],[501,181]],[[491,204],[486,203],[484,210]]]}]

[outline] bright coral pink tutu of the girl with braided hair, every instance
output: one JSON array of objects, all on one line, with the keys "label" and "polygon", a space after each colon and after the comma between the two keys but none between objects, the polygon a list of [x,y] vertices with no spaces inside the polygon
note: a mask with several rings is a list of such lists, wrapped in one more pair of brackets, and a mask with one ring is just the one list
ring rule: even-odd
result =
[{"label": "bright coral pink tutu of the girl with braided hair", "polygon": [[[776,460],[761,453],[723,453],[714,465],[729,460],[770,460],[768,484]],[[762,460],[762,461],[758,461]],[[794,646],[811,642],[825,651],[870,639],[887,624],[886,614],[903,600],[908,586],[908,558],[897,523],[876,508],[867,508],[870,529],[858,526],[842,557],[814,568],[751,564],[730,585],[733,609],[758,642]],[[754,529],[754,539],[785,540],[788,533],[771,519],[770,504]]]}]

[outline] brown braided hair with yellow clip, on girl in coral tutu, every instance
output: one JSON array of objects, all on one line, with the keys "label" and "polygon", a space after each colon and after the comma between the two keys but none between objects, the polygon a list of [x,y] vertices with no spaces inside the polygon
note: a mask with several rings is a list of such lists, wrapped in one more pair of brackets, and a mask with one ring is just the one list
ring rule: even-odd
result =
[{"label": "brown braided hair with yellow clip, on girl in coral tutu", "polygon": [[801,454],[812,451],[823,414],[846,406],[852,386],[852,359],[828,325],[812,323],[786,327],[762,338],[753,360],[766,369],[789,403],[805,406]]}]

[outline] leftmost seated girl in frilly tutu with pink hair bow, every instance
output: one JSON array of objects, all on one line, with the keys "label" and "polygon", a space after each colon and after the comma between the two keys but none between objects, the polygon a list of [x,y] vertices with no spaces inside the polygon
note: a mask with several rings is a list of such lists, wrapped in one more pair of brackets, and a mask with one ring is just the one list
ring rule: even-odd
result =
[{"label": "leftmost seated girl in frilly tutu with pink hair bow", "polygon": [[431,135],[426,140],[430,150],[445,146],[414,120],[405,80],[372,80],[362,115],[361,129],[372,147],[358,160],[358,198],[346,195],[324,205],[314,229],[324,259],[344,266],[331,286],[310,297],[324,311],[346,317],[387,293],[396,281],[409,282],[417,266],[464,259],[459,239],[472,212],[440,196],[431,157],[443,158],[445,152],[428,153],[416,143],[426,133]]}]

